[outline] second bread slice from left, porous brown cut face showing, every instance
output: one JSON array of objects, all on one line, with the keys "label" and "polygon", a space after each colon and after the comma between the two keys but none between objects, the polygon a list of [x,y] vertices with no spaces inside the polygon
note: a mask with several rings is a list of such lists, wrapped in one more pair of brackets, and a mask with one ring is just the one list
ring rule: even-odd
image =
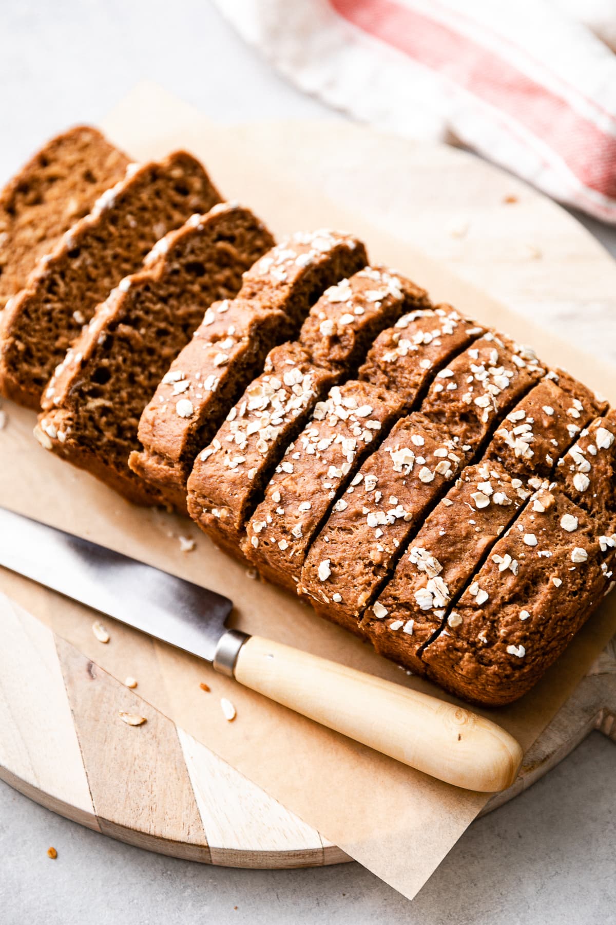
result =
[{"label": "second bread slice from left, porous brown cut face showing", "polygon": [[94,309],[139,269],[156,240],[220,202],[203,167],[185,152],[132,165],[90,215],[43,257],[6,307],[0,327],[0,391],[39,408],[42,390]]}]

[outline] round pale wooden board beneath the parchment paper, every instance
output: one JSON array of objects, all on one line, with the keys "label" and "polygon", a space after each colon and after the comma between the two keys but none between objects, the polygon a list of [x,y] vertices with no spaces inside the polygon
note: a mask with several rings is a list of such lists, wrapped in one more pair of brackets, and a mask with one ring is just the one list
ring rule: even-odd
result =
[{"label": "round pale wooden board beneath the parchment paper", "polygon": [[[616,264],[574,218],[519,180],[453,148],[348,124],[218,130],[616,362]],[[296,158],[277,164],[290,137]],[[218,167],[212,174],[226,189]],[[0,650],[7,783],[80,824],[174,857],[249,868],[349,859],[163,714],[149,708],[138,736],[123,723],[93,721],[102,702],[105,712],[126,709],[127,688],[6,598],[0,611],[8,632]],[[138,693],[130,696],[139,713]],[[527,753],[513,787],[484,812],[534,783],[593,729],[616,740],[613,641]],[[115,785],[127,777],[127,787]]]}]

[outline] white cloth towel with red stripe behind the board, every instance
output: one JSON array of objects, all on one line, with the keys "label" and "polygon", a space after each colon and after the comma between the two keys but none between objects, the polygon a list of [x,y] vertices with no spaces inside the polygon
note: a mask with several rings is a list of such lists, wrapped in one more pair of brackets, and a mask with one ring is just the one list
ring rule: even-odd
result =
[{"label": "white cloth towel with red stripe behind the board", "polygon": [[290,80],[616,224],[616,0],[216,0]]}]

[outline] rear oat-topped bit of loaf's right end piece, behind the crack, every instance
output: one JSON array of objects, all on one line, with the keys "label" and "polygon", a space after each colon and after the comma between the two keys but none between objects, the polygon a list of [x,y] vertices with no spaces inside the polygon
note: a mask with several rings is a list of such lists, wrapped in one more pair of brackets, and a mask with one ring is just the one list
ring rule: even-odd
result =
[{"label": "rear oat-topped bit of loaf's right end piece, behind the crack", "polygon": [[582,431],[559,462],[556,479],[605,531],[616,532],[616,410]]}]

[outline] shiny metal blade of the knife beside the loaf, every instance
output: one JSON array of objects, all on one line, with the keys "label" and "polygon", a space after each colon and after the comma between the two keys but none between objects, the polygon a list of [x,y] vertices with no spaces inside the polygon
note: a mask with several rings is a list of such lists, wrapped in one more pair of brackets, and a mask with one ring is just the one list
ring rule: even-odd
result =
[{"label": "shiny metal blade of the knife beside the loaf", "polygon": [[215,591],[2,507],[0,566],[208,661],[233,607]]}]

